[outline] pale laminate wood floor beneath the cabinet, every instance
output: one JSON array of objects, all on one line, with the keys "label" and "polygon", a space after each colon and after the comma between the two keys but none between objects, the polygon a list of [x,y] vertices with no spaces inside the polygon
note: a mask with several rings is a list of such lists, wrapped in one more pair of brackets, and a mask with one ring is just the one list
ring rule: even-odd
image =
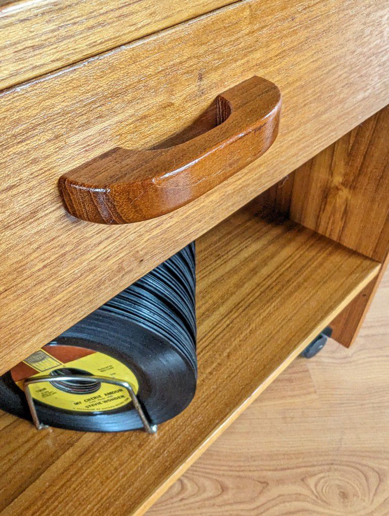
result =
[{"label": "pale laminate wood floor beneath the cabinet", "polygon": [[295,360],[147,514],[389,514],[389,270],[355,344]]}]

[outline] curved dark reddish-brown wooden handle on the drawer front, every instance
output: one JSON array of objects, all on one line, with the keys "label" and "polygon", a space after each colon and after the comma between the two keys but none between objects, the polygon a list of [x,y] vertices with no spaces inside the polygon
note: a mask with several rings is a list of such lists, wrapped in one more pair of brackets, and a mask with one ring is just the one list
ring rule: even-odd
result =
[{"label": "curved dark reddish-brown wooden handle on the drawer front", "polygon": [[280,109],[275,84],[251,77],[217,97],[210,131],[164,149],[112,149],[62,175],[65,207],[74,217],[105,224],[173,212],[266,152]]}]

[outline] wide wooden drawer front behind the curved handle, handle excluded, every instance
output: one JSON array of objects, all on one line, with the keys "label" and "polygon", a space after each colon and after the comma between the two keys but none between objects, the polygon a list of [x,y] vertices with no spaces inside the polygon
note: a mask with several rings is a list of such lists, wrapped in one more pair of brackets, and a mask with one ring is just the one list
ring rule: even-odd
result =
[{"label": "wide wooden drawer front behind the curved handle, handle excluded", "polygon": [[[388,103],[385,3],[292,4],[239,2],[0,95],[3,370]],[[256,162],[154,220],[67,214],[61,174],[155,146],[253,75],[283,94],[279,135]]]}]

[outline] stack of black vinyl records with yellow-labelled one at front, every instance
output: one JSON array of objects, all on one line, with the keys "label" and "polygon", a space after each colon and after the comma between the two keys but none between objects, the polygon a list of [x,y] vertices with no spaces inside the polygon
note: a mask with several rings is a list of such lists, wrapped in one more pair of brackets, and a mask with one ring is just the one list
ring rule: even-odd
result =
[{"label": "stack of black vinyl records with yellow-labelled one at front", "polygon": [[[151,424],[182,412],[197,380],[195,246],[185,247],[0,377],[0,408],[29,419],[24,381],[39,420],[87,431],[142,427],[122,386],[62,380],[98,376],[128,382]],[[58,378],[58,379],[57,379]]]}]

